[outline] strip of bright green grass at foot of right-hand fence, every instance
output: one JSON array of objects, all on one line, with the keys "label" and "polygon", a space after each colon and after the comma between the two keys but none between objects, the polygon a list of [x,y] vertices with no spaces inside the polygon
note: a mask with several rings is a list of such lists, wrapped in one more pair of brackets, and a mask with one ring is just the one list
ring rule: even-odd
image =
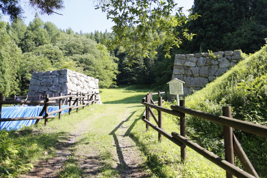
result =
[{"label": "strip of bright green grass at foot of right-hand fence", "polygon": [[[163,104],[168,107],[167,103]],[[154,113],[157,113],[154,110]],[[155,123],[151,119],[152,123]],[[178,117],[163,113],[163,129],[168,133],[173,131],[179,133],[177,125]],[[138,120],[132,133],[140,149],[146,154],[146,165],[150,168],[153,177],[225,177],[225,171],[211,163],[187,147],[187,162],[181,163],[180,147],[163,137],[163,142],[158,142],[158,132],[150,128],[145,131],[145,123]]]}]

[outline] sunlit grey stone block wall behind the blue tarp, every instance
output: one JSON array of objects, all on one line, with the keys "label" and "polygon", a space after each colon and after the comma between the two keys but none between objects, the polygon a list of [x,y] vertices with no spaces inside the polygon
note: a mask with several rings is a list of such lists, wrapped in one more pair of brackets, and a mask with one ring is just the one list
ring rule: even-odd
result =
[{"label": "sunlit grey stone block wall behind the blue tarp", "polygon": [[[65,96],[72,93],[99,93],[98,87],[99,80],[97,78],[89,77],[84,74],[69,70],[54,70],[46,72],[33,72],[32,79],[30,81],[29,96],[45,96],[49,94],[50,97]],[[96,96],[98,104],[101,104],[99,94]]]}]

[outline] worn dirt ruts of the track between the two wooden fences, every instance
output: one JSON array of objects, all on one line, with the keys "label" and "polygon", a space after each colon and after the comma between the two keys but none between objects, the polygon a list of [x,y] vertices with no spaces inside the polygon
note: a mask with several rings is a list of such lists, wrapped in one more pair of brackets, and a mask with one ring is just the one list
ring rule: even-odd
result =
[{"label": "worn dirt ruts of the track between the two wooden fences", "polygon": [[[128,136],[138,117],[136,117],[136,110],[140,110],[136,105],[127,108],[127,104],[121,105],[116,111],[116,104],[106,104],[102,106],[95,106],[105,110],[102,114],[93,114],[89,118],[85,118],[72,126],[69,133],[69,138],[64,141],[58,141],[56,156],[46,161],[40,161],[35,164],[34,169],[23,177],[59,177],[58,172],[64,167],[64,162],[67,156],[75,155],[82,170],[82,177],[98,177],[103,168],[103,161],[105,157],[101,156],[97,148],[92,144],[81,144],[81,140],[86,139],[88,132],[95,131],[99,128],[94,128],[98,122],[101,127],[106,128],[103,133],[104,136],[111,137],[112,140],[112,160],[115,164],[111,165],[111,171],[117,170],[118,174],[115,177],[150,177],[144,171],[144,159],[142,153],[136,147],[135,142]],[[88,112],[92,109],[87,108]],[[86,110],[85,110],[86,111]],[[111,115],[113,111],[113,115]],[[114,116],[117,112],[119,115]],[[76,114],[76,113],[73,113]],[[135,115],[135,116],[134,116]],[[114,123],[111,126],[110,122],[104,122],[105,118],[114,118]],[[96,126],[97,127],[97,126]],[[98,126],[99,127],[99,126]],[[101,128],[100,128],[100,131]],[[96,133],[100,131],[97,130]],[[84,138],[85,137],[85,138]]]}]

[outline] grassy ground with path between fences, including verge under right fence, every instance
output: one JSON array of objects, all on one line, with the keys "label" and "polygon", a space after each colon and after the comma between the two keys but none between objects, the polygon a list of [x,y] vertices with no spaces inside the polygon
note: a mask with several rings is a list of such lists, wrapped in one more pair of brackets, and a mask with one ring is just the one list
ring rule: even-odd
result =
[{"label": "grassy ground with path between fences, including verge under right fence", "polygon": [[[159,143],[155,130],[146,131],[140,101],[149,91],[140,86],[101,89],[102,105],[50,120],[47,127],[42,122],[13,132],[16,143],[27,143],[32,152],[26,163],[34,168],[23,177],[225,177],[224,170],[190,148],[181,164],[177,145],[164,137]],[[166,132],[179,133],[178,121],[163,113]]]}]

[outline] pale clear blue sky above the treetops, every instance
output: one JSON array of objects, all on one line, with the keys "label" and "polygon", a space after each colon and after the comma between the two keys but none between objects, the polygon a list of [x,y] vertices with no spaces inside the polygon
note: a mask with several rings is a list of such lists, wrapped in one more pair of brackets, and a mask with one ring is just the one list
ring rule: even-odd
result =
[{"label": "pale clear blue sky above the treetops", "polygon": [[[176,0],[178,7],[184,7],[184,11],[190,9],[194,4],[194,0]],[[29,9],[21,2],[21,6],[25,10],[24,22],[26,25],[33,20],[35,15],[34,9]],[[74,32],[82,30],[85,33],[94,32],[95,30],[111,32],[114,26],[111,19],[107,19],[106,14],[101,9],[95,9],[93,0],[65,0],[65,9],[58,11],[63,15],[40,15],[44,22],[53,22],[58,28],[67,29],[71,27]],[[185,13],[186,14],[186,13]],[[9,21],[9,17],[3,16],[4,21]]]}]

